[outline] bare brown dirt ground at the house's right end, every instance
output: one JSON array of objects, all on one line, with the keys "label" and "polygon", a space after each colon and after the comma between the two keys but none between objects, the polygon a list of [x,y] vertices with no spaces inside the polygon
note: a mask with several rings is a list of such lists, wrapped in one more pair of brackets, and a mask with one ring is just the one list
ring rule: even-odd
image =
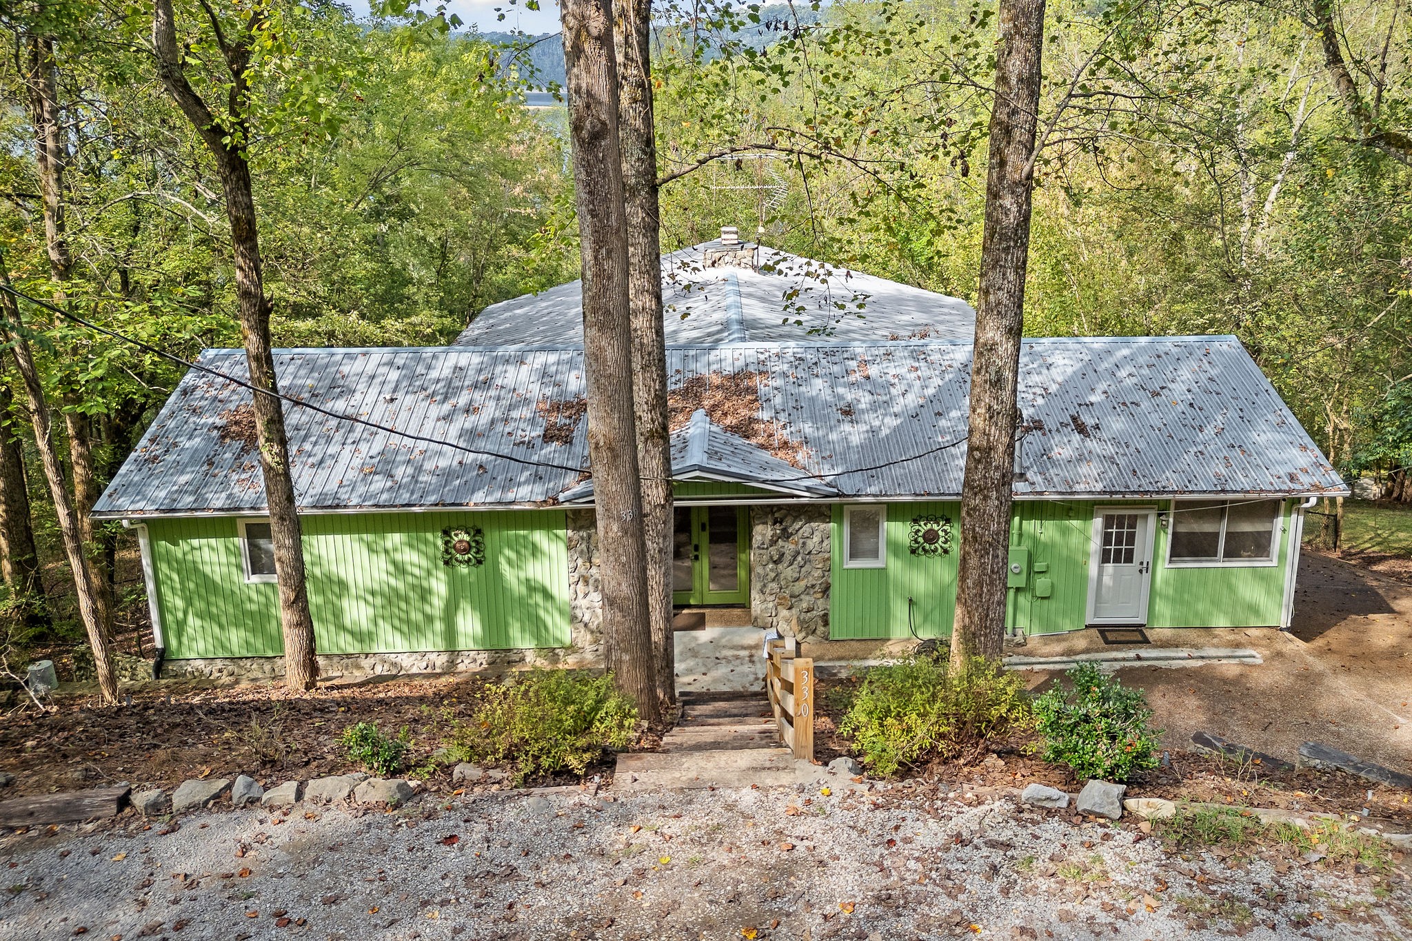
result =
[{"label": "bare brown dirt ground at the house's right end", "polygon": [[[1091,649],[1089,633],[1032,638],[1024,652]],[[1265,660],[1120,670],[1124,683],[1147,690],[1169,748],[1189,748],[1192,732],[1209,731],[1295,762],[1300,743],[1317,741],[1412,773],[1412,584],[1306,550],[1288,633],[1228,628],[1148,636],[1156,646],[1251,648]]]}]

